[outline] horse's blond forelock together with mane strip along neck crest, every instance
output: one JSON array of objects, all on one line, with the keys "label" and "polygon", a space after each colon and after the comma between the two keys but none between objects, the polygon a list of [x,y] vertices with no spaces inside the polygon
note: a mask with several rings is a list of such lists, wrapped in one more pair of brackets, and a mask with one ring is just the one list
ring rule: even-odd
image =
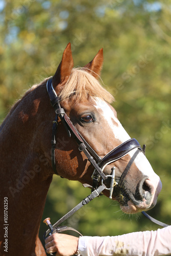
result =
[{"label": "horse's blond forelock together with mane strip along neck crest", "polygon": [[[63,101],[67,98],[71,98],[75,101],[81,101],[83,99],[88,99],[91,101],[91,97],[98,97],[101,100],[104,100],[108,103],[112,103],[114,101],[114,97],[112,96],[112,94],[108,92],[102,86],[102,82],[99,82],[91,73],[92,71],[88,68],[72,69],[67,82],[62,87],[60,87],[61,90],[58,95],[60,97],[60,101]],[[0,130],[3,129],[5,121],[15,111],[19,103],[22,102],[25,97],[27,97],[31,92],[36,90],[38,87],[46,86],[48,79],[49,78],[45,78],[39,84],[34,84],[28,91],[25,92],[22,98],[20,98],[14,103],[10,112],[6,116],[4,122],[0,125]]]}]

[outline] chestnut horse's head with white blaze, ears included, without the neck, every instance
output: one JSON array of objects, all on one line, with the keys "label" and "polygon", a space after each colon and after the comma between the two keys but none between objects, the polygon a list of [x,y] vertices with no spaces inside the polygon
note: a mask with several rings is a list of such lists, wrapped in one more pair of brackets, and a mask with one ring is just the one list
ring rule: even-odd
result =
[{"label": "chestnut horse's head with white blaze, ears included, without the neck", "polygon": [[[161,181],[139,143],[130,138],[119,122],[110,104],[113,96],[98,81],[102,63],[103,50],[100,49],[86,66],[74,69],[71,45],[68,44],[52,78],[53,93],[64,111],[59,111],[60,114],[66,113],[74,129],[99,157],[97,165],[108,177],[103,183],[109,190],[115,170],[110,197],[120,203],[123,212],[133,214],[155,206]],[[101,177],[96,170],[94,172],[94,166],[83,150],[78,150],[75,135],[69,138],[64,123],[56,122],[60,142],[54,150],[57,174],[90,186],[94,186],[91,178],[94,174],[100,184]],[[103,194],[109,196],[109,190],[105,189]]]}]

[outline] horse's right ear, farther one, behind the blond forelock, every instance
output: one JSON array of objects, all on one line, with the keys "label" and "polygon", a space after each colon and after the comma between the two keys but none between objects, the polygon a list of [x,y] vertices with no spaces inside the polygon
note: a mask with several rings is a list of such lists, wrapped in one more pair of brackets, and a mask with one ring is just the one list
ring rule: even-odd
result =
[{"label": "horse's right ear, farther one, behind the blond forelock", "polygon": [[94,59],[90,61],[84,68],[87,68],[88,72],[91,73],[96,79],[98,79],[101,69],[103,66],[103,48],[101,48]]}]

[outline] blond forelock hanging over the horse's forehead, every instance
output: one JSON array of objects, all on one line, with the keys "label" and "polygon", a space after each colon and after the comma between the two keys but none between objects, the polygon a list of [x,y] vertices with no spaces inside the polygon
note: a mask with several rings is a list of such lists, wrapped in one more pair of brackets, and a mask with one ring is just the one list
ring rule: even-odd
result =
[{"label": "blond forelock hanging over the horse's forehead", "polygon": [[65,86],[59,94],[60,101],[69,98],[80,101],[83,98],[88,99],[90,96],[99,97],[108,103],[114,101],[114,97],[106,91],[100,82],[87,69],[74,68],[69,76]]}]

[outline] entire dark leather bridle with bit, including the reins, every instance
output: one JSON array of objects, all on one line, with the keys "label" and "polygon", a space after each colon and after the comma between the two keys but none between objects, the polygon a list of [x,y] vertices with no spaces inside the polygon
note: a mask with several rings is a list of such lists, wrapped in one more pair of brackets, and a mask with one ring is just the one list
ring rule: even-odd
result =
[{"label": "entire dark leather bridle with bit, including the reins", "polygon": [[[80,152],[83,152],[90,163],[94,166],[94,172],[92,175],[93,179],[93,186],[90,186],[89,184],[83,184],[84,187],[91,187],[92,188],[92,193],[89,195],[87,198],[84,198],[77,206],[75,206],[68,214],[63,216],[59,221],[57,221],[53,226],[51,224],[47,224],[50,229],[47,230],[44,238],[46,238],[47,234],[51,231],[53,232],[61,232],[63,230],[69,229],[68,227],[58,227],[63,221],[68,219],[76,210],[81,208],[83,205],[88,204],[90,201],[92,201],[94,198],[98,197],[104,189],[109,189],[110,190],[110,196],[109,198],[112,199],[112,194],[113,190],[116,186],[122,188],[123,183],[125,180],[125,177],[127,173],[129,172],[129,169],[131,165],[133,164],[135,158],[140,152],[143,152],[145,154],[145,145],[141,148],[139,142],[136,139],[129,139],[119,146],[115,147],[111,152],[106,154],[103,158],[99,157],[96,152],[93,150],[93,148],[89,145],[89,143],[84,140],[84,138],[80,135],[80,133],[77,131],[73,123],[71,122],[70,118],[67,116],[65,113],[65,110],[61,108],[60,106],[60,99],[57,96],[53,85],[52,85],[52,77],[47,81],[47,91],[50,97],[50,102],[51,105],[53,106],[56,116],[55,120],[53,121],[53,126],[52,126],[52,147],[51,147],[51,155],[52,155],[52,168],[55,174],[58,175],[57,170],[56,170],[56,163],[55,163],[55,147],[56,147],[56,132],[57,132],[57,125],[58,125],[58,119],[60,118],[61,122],[65,126],[65,129],[68,133],[69,137],[73,137],[78,144],[78,150]],[[103,169],[106,165],[115,162],[125,155],[127,155],[129,152],[135,150],[135,153],[133,154],[132,158],[130,159],[129,163],[127,163],[119,182],[116,182],[115,180],[115,167],[112,168],[112,174],[111,175],[105,175],[103,173]],[[102,178],[102,184],[99,185],[100,177]],[[111,185],[110,188],[107,188],[104,184],[103,181],[108,179],[108,177],[111,178]],[[128,196],[129,197],[129,196]],[[146,214],[146,212],[142,213],[148,218],[151,219],[153,222],[162,225],[162,226],[167,226],[166,224],[159,222],[155,220],[154,218],[150,217],[149,215]],[[70,228],[71,229],[71,228]]]}]

